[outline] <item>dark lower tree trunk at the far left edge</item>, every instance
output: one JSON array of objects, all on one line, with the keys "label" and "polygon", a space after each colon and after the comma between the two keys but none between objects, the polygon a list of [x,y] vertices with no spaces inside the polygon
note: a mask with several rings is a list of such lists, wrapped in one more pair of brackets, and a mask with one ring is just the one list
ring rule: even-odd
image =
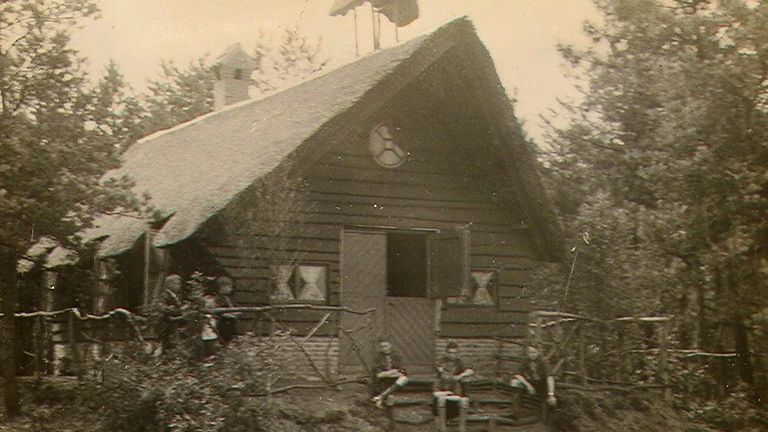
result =
[{"label": "dark lower tree trunk at the far left edge", "polygon": [[18,382],[16,381],[16,257],[15,253],[0,255],[0,288],[2,289],[2,311],[5,314],[2,326],[3,352],[3,397],[8,417],[21,413]]}]

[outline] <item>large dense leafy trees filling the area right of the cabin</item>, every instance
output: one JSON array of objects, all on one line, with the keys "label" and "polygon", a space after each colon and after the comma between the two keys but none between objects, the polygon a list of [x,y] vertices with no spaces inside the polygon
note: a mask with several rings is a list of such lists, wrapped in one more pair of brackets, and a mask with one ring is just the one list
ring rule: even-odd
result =
[{"label": "large dense leafy trees filling the area right of the cabin", "polygon": [[681,342],[736,350],[753,385],[768,307],[768,3],[596,4],[593,47],[562,48],[588,85],[548,155],[566,224],[594,239],[574,289],[604,315],[675,314]]}]

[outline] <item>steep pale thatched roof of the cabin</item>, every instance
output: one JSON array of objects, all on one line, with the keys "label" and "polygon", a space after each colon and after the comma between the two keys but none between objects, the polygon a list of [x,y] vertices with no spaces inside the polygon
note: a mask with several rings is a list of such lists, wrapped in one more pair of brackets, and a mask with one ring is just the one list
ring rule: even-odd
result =
[{"label": "steep pale thatched roof of the cabin", "polygon": [[[490,55],[472,24],[460,18],[430,34],[369,54],[274,95],[245,101],[147,136],[126,151],[122,166],[108,177],[130,176],[135,181],[134,190],[138,194],[148,192],[151,204],[167,218],[154,237],[155,246],[178,243],[279,166],[331,120],[366,95],[375,93],[380,97],[381,92],[376,91],[382,81],[405,79],[405,74],[413,73],[414,64],[444,52],[443,45],[466,38],[476,41],[472,46],[479,49],[473,55],[490,68],[486,84],[498,93],[497,102],[503,101],[504,117],[518,127]],[[535,202],[544,194],[533,155],[519,130],[513,132],[514,141],[520,142],[507,147],[515,153],[512,159],[518,174],[528,178],[524,186],[529,190],[523,194],[536,195],[533,216],[542,221],[545,239],[555,238],[557,225],[548,203]],[[148,222],[121,216],[102,217],[97,224],[89,237],[104,239],[99,249],[102,257],[123,253],[149,229]]]}]

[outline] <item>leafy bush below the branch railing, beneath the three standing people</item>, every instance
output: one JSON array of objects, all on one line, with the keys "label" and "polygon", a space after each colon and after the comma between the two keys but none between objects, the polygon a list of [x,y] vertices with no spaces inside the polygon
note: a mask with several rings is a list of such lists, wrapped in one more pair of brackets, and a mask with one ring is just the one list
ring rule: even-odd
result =
[{"label": "leafy bush below the branch railing, beneath the three standing people", "polygon": [[100,430],[126,432],[258,431],[264,407],[246,395],[264,393],[282,375],[284,335],[241,337],[211,362],[180,347],[162,356],[136,354],[106,362],[104,382],[91,383],[104,412]]}]

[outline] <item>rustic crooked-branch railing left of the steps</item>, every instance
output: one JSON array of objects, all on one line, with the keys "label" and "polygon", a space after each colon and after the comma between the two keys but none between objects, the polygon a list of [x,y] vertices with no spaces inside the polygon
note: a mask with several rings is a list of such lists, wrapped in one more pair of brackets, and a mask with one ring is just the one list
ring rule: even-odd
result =
[{"label": "rustic crooked-branch railing left of the steps", "polygon": [[[275,315],[275,312],[284,311],[320,311],[322,317],[312,323],[311,328],[300,334],[295,334],[291,328],[290,322],[281,322]],[[336,342],[340,338],[349,338],[354,351],[358,353],[358,361],[363,370],[369,370],[368,361],[360,353],[359,344],[361,341],[355,338],[355,334],[360,329],[345,329],[341,327],[341,314],[350,313],[356,315],[366,315],[375,312],[375,309],[354,310],[341,306],[309,305],[309,304],[286,304],[269,306],[250,306],[250,307],[229,307],[203,309],[200,312],[210,314],[238,313],[252,315],[251,326],[246,334],[240,337],[254,337],[260,344],[262,339],[272,337],[279,332],[287,342],[284,349],[292,349],[296,354],[303,357],[311,370],[310,378],[322,382],[320,385],[312,384],[294,384],[290,388],[309,387],[327,387],[339,385],[338,377],[335,374],[335,366],[338,358],[331,356],[333,338],[328,338],[323,348],[322,356],[318,356],[315,349],[312,353],[307,348],[312,338],[316,337],[318,331],[323,327],[331,326],[335,323],[335,328],[326,334],[332,334]],[[331,319],[335,315],[336,319]],[[0,317],[3,315],[0,314]],[[110,355],[109,349],[104,350],[105,346],[121,342],[138,342],[142,347],[157,349],[158,340],[152,328],[150,316],[133,313],[129,310],[117,308],[104,314],[92,315],[83,313],[77,308],[67,308],[56,311],[35,311],[18,312],[14,314],[16,318],[33,320],[32,346],[33,352],[26,354],[34,358],[33,374],[35,376],[51,374],[53,372],[50,366],[54,356],[54,346],[64,348],[65,359],[67,362],[66,373],[83,378],[86,373],[97,373],[98,371],[89,370],[98,368],[101,361],[106,360]],[[255,330],[255,331],[254,331]],[[315,347],[317,344],[315,344]],[[86,357],[93,355],[91,348],[98,348],[96,351],[97,361],[88,361]],[[105,352],[106,351],[106,352]],[[313,355],[314,354],[314,355]],[[277,380],[271,384],[276,384]],[[352,378],[359,380],[360,378]],[[270,393],[285,391],[290,388],[275,388],[268,386]]]}]

